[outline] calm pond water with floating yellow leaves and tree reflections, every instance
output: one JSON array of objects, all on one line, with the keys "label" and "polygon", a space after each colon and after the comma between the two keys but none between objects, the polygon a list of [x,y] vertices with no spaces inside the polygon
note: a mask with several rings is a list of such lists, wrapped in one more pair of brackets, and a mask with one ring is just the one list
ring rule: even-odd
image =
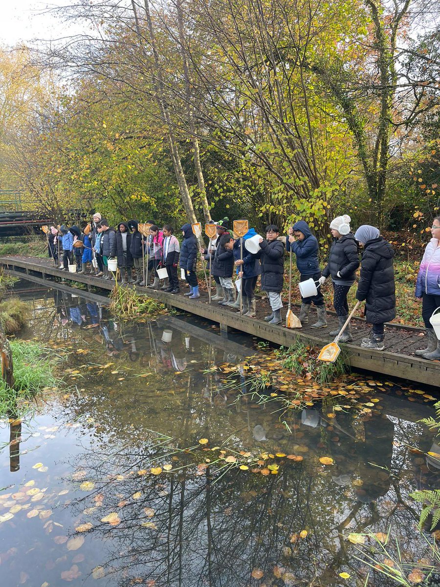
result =
[{"label": "calm pond water with floating yellow leaves and tree reflections", "polygon": [[280,417],[243,376],[226,383],[260,353],[251,337],[184,315],[125,325],[55,289],[25,299],[22,336],[69,354],[63,389],[1,423],[2,587],[395,584],[353,532],[390,531],[390,558],[395,538],[406,561],[428,556],[408,494],[440,487],[419,452],[440,452],[417,423],[432,390],[350,376],[329,391],[372,410],[329,397]]}]

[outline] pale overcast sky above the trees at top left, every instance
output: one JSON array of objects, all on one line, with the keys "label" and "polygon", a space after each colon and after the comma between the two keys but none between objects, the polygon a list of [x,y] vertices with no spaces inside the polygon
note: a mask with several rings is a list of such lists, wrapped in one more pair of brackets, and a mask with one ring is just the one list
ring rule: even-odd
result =
[{"label": "pale overcast sky above the trees at top left", "polygon": [[0,0],[0,44],[30,43],[34,39],[57,39],[84,32],[79,23],[63,23],[46,8],[71,4],[67,0],[41,2],[39,0]]}]

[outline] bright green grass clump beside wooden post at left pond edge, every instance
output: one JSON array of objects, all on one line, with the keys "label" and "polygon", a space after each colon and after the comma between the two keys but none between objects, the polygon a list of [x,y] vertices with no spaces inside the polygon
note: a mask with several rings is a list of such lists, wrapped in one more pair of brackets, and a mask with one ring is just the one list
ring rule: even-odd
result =
[{"label": "bright green grass clump beside wooden post at left pond edge", "polygon": [[[45,387],[57,387],[55,375],[60,357],[53,350],[28,340],[11,340],[13,360],[13,389],[0,378],[0,415],[22,411],[20,403],[42,392]],[[52,354],[46,354],[52,353]]]}]

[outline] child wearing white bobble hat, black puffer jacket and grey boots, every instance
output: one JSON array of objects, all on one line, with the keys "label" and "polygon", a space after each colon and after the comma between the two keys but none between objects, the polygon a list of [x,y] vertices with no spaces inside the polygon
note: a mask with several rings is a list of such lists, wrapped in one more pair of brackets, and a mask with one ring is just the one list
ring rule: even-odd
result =
[{"label": "child wearing white bobble hat, black puffer jacket and grey boots", "polygon": [[[330,222],[330,230],[334,241],[330,248],[329,262],[322,272],[319,282],[322,285],[331,275],[333,282],[333,306],[336,310],[339,326],[342,328],[348,317],[347,294],[356,279],[356,269],[359,266],[359,252],[356,240],[350,230],[350,216],[344,214]],[[336,336],[339,330],[330,332]],[[341,342],[351,340],[350,325],[344,330]]]}]

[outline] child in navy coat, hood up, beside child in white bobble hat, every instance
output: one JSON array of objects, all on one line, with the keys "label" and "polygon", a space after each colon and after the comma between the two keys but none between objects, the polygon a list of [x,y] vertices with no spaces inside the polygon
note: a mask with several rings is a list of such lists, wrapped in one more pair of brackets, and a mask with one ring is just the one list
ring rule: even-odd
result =
[{"label": "child in navy coat, hood up, beside child in white bobble hat", "polygon": [[[289,237],[286,239],[286,250],[292,250],[296,255],[296,266],[300,272],[299,281],[313,279],[318,281],[321,277],[321,269],[318,260],[319,245],[316,237],[310,231],[309,225],[304,220],[300,220],[289,228]],[[318,286],[318,293],[309,298],[301,296],[301,311],[298,316],[302,324],[309,322],[309,312],[312,302],[316,306],[318,320],[310,328],[326,328],[327,313],[324,306],[324,298],[321,294],[321,288]]]}]

